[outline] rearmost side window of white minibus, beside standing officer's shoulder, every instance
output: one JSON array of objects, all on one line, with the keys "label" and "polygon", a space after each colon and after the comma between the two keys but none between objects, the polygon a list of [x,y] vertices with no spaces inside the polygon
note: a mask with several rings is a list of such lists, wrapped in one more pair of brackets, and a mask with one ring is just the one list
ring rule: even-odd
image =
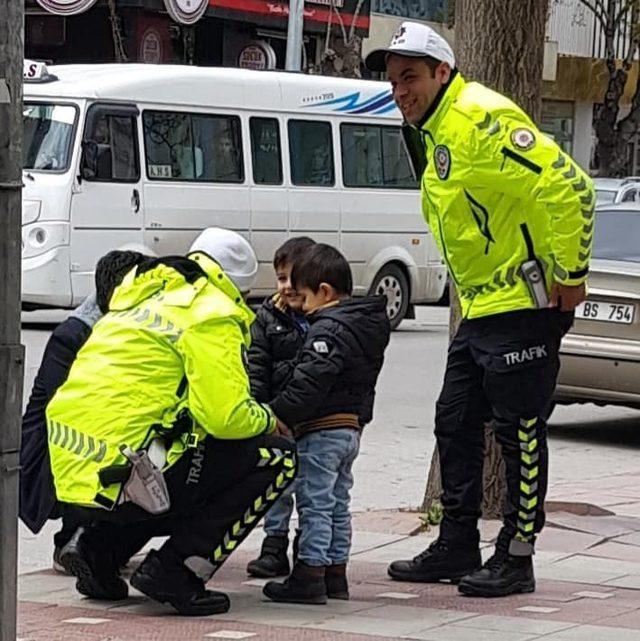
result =
[{"label": "rearmost side window of white minibus, beside standing officer's shoulder", "polygon": [[340,139],[345,187],[418,187],[399,127],[344,123]]}]

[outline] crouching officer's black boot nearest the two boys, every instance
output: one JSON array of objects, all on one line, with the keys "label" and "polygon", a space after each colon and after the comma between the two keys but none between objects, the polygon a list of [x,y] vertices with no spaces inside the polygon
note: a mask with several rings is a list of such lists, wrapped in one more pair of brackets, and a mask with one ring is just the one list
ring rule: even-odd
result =
[{"label": "crouching officer's black boot nearest the two boys", "polygon": [[208,616],[229,611],[229,597],[204,587],[178,558],[151,550],[131,575],[131,585],[154,601],[168,603],[179,614]]}]

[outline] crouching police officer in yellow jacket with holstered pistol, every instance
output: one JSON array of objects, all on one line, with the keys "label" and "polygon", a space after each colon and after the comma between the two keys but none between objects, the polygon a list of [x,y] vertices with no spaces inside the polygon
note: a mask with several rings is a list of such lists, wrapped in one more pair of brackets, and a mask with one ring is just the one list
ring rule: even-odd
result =
[{"label": "crouching police officer in yellow jacket with holstered pistol", "polygon": [[57,498],[94,524],[61,552],[82,594],[125,598],[115,550],[168,535],[131,585],[181,614],[228,610],[205,583],[296,469],[292,442],[249,393],[241,292],[256,272],[251,246],[223,229],[187,258],[138,265],[48,405]]}]

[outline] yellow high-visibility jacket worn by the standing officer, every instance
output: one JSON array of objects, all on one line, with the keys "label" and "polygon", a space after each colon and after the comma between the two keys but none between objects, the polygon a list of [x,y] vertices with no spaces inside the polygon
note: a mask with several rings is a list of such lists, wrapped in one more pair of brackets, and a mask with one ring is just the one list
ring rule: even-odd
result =
[{"label": "yellow high-visibility jacket worn by the standing officer", "polygon": [[464,318],[535,307],[520,271],[532,253],[547,291],[585,281],[592,181],[517,105],[456,74],[420,131],[423,213]]}]

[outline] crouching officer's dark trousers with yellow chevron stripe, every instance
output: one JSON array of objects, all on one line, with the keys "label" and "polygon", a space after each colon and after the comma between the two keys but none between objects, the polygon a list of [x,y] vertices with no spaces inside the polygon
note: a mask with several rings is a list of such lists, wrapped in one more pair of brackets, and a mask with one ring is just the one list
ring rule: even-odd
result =
[{"label": "crouching officer's dark trousers with yellow chevron stripe", "polygon": [[210,571],[203,578],[209,578],[293,481],[296,469],[289,439],[207,437],[165,473],[168,513],[153,516],[131,503],[112,511],[85,509],[80,521],[92,526],[83,536],[118,564],[150,538],[169,536],[161,555],[206,560]]}]

